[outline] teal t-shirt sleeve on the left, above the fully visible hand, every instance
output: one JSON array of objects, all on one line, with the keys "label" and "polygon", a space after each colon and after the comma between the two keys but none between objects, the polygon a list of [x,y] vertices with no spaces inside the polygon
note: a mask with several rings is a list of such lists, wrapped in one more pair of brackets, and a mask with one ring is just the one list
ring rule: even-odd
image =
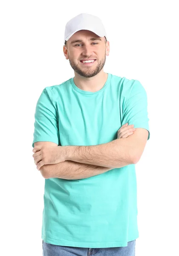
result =
[{"label": "teal t-shirt sleeve on the left, above the fully visible hand", "polygon": [[58,113],[52,101],[52,89],[43,89],[35,109],[34,143],[49,141],[59,145]]}]

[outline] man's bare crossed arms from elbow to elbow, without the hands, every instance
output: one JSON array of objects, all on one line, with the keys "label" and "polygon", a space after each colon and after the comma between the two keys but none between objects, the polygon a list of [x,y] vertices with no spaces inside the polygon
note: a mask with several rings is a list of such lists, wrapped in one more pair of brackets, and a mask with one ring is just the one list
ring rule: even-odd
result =
[{"label": "man's bare crossed arms from elbow to elbow, without the hands", "polygon": [[147,137],[146,129],[136,128],[136,131],[125,139],[95,146],[65,146],[66,161],[44,165],[40,172],[46,179],[83,179],[137,163],[144,151]]}]

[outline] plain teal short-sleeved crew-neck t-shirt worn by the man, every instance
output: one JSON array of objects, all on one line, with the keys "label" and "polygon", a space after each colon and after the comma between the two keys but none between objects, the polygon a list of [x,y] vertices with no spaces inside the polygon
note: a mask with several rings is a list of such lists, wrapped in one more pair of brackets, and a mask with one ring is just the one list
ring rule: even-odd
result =
[{"label": "plain teal short-sleeved crew-neck t-shirt worn by the man", "polygon": [[[101,90],[89,92],[70,78],[43,89],[32,146],[37,141],[61,146],[108,143],[127,122],[149,131],[147,115],[147,94],[138,80],[108,73]],[[85,179],[45,179],[43,198],[41,237],[46,243],[121,247],[139,237],[135,164]]]}]

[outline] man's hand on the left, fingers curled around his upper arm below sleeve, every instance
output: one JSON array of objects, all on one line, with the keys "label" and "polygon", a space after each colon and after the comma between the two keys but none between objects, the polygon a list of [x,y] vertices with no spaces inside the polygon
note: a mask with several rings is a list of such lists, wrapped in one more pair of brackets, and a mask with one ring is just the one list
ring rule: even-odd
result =
[{"label": "man's hand on the left, fingers curled around his upper arm below sleeve", "polygon": [[37,145],[32,151],[35,153],[32,157],[34,157],[34,162],[38,170],[43,165],[61,163],[66,160],[65,150],[62,146]]}]

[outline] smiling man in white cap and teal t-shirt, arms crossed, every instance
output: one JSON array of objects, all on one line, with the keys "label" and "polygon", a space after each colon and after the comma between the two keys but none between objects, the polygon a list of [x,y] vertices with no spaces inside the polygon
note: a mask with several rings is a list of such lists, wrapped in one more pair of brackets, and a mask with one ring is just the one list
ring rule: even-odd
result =
[{"label": "smiling man in white cap and teal t-shirt, arms crossed", "polygon": [[43,256],[135,255],[135,164],[150,137],[147,95],[138,80],[104,73],[109,52],[98,17],[69,20],[64,55],[75,77],[44,88],[37,102]]}]

